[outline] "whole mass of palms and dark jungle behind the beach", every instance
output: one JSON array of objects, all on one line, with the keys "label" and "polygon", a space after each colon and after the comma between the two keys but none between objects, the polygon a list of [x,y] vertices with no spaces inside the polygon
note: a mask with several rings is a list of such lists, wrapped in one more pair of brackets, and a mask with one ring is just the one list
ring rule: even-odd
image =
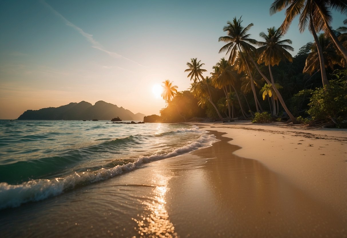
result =
[{"label": "whole mass of palms and dark jungle behind the beach", "polygon": [[[274,0],[270,14],[285,10],[277,28],[270,26],[252,39],[253,23],[234,17],[219,37],[225,52],[212,67],[202,60],[186,63],[190,91],[177,92],[163,82],[163,122],[209,118],[222,122],[252,119],[253,122],[287,121],[311,126],[347,127],[347,27],[332,29],[332,10],[347,13],[345,1]],[[294,51],[284,39],[293,19],[299,16],[299,31],[308,27],[313,42]],[[347,25],[347,19],[341,25]],[[210,76],[204,76],[203,74]]]}]

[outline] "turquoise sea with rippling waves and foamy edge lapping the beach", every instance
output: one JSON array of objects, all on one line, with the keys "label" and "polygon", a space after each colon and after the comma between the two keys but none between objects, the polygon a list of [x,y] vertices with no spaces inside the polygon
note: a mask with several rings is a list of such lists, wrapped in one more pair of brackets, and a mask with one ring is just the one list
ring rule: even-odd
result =
[{"label": "turquoise sea with rippling waves and foamy edge lapping the beach", "polygon": [[215,141],[186,124],[0,120],[0,209],[57,196]]}]

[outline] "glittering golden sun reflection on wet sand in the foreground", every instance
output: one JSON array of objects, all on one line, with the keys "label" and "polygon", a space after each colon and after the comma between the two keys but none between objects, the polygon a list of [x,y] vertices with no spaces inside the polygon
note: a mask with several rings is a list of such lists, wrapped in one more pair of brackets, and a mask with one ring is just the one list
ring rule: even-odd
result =
[{"label": "glittering golden sun reflection on wet sand in the foreground", "polygon": [[153,184],[160,185],[153,189],[155,194],[153,201],[143,203],[146,206],[145,211],[132,219],[137,223],[137,227],[134,229],[139,233],[139,236],[134,237],[178,237],[165,207],[165,194],[168,190],[169,179],[170,177],[159,174],[153,179]]}]

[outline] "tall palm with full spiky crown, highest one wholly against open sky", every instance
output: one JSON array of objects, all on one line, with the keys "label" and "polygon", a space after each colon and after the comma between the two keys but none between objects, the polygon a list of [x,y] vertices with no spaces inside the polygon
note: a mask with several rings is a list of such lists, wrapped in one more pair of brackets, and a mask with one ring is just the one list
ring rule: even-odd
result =
[{"label": "tall palm with full spiky crown, highest one wholly against open sky", "polygon": [[[223,31],[227,32],[228,35],[221,36],[218,39],[218,41],[227,42],[227,44],[219,50],[219,53],[224,51],[227,51],[226,54],[230,53],[229,62],[231,65],[234,65],[238,54],[240,54],[240,57],[242,57],[241,61],[244,61],[247,67],[247,72],[249,73],[249,75],[251,75],[251,69],[249,68],[247,60],[242,52],[245,51],[249,53],[251,51],[255,51],[255,47],[251,44],[255,44],[256,40],[250,39],[250,34],[247,34],[247,31],[253,26],[253,23],[249,24],[245,28],[241,25],[241,23],[241,17],[238,20],[236,19],[236,17],[234,17],[232,22],[227,22],[228,25],[223,28]],[[251,80],[251,86],[256,105],[256,110],[257,112],[259,112],[259,102],[257,101],[253,80]]]}]

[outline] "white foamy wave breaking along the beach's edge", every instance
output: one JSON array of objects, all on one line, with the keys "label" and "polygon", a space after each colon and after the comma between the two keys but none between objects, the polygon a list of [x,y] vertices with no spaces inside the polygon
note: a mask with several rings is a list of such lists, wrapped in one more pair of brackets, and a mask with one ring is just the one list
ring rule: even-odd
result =
[{"label": "white foamy wave breaking along the beach's edge", "polygon": [[[179,131],[185,131],[191,129],[179,129]],[[201,131],[200,131],[201,132]],[[142,135],[143,136],[143,135]],[[137,136],[139,138],[140,136]],[[133,141],[134,136],[128,136],[123,138],[124,141]],[[48,197],[57,196],[64,193],[67,190],[74,189],[76,187],[85,186],[96,181],[109,179],[120,175],[124,172],[132,171],[140,167],[144,163],[152,161],[162,160],[171,158],[177,155],[185,154],[203,146],[211,145],[215,142],[215,136],[211,134],[202,134],[200,138],[191,141],[191,143],[176,148],[175,150],[168,153],[155,153],[149,156],[140,156],[134,162],[129,162],[122,165],[116,165],[112,168],[101,168],[95,171],[90,169],[86,171],[75,171],[64,177],[58,177],[53,179],[33,179],[30,181],[23,182],[18,185],[11,185],[7,182],[0,183],[0,209],[8,207],[20,206],[26,202],[35,202],[46,199]],[[106,142],[107,145],[119,143],[117,140]],[[101,143],[104,144],[105,143]]]}]

